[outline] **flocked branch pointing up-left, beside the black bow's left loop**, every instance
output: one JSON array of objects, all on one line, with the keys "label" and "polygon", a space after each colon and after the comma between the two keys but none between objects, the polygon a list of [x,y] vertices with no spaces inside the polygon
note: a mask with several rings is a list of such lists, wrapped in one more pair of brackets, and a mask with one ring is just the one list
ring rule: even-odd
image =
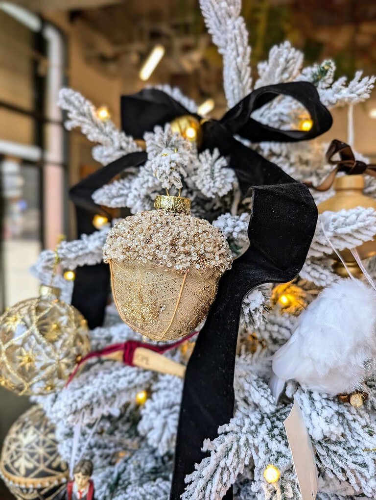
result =
[{"label": "flocked branch pointing up-left, beside the black bow's left loop", "polygon": [[124,154],[140,150],[133,137],[118,130],[110,119],[100,119],[95,106],[79,92],[62,88],[58,105],[67,111],[65,126],[68,130],[79,127],[89,140],[100,144],[93,148],[93,158],[99,163],[106,165]]}]

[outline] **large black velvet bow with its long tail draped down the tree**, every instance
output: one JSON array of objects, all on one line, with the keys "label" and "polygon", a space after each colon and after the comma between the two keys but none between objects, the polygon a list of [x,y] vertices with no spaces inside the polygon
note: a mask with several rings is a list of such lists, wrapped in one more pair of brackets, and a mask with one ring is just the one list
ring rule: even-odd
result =
[{"label": "large black velvet bow with its long tail draped down the tree", "polygon": [[[313,120],[311,130],[279,130],[251,117],[254,110],[280,95],[292,96],[306,107]],[[184,114],[192,113],[161,90],[148,88],[121,98],[122,128],[135,138],[142,137],[155,125],[163,125]],[[229,166],[235,170],[242,193],[252,188],[250,244],[221,278],[216,299],[188,362],[171,500],[180,498],[186,474],[204,458],[203,440],[215,438],[219,425],[233,416],[236,343],[244,296],[262,283],[287,282],[299,273],[317,221],[317,208],[308,187],[244,146],[234,134],[253,142],[298,141],[316,137],[331,125],[331,114],[320,102],[314,85],[308,82],[258,88],[220,120],[202,124],[200,150],[217,147],[223,156],[229,157]],[[71,198],[77,205],[97,212],[100,207],[91,199],[93,191],[121,171],[141,165],[145,160],[146,152],[119,158],[74,186]],[[232,498],[231,488],[225,497]]]}]

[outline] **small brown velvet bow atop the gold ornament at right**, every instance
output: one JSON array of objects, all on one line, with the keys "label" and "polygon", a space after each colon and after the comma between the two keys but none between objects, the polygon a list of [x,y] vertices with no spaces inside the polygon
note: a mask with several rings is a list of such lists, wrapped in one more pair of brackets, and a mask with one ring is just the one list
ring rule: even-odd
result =
[{"label": "small brown velvet bow atop the gold ornament at right", "polygon": [[[340,159],[333,159],[337,153]],[[367,173],[368,175],[376,177],[376,164],[367,164],[364,161],[356,159],[351,146],[341,140],[332,140],[328,147],[326,158],[328,163],[336,165],[336,167],[327,177],[325,177],[321,184],[315,186],[309,180],[304,182],[308,187],[315,189],[315,191],[327,191],[330,189],[338,172],[345,172],[347,175]]]}]

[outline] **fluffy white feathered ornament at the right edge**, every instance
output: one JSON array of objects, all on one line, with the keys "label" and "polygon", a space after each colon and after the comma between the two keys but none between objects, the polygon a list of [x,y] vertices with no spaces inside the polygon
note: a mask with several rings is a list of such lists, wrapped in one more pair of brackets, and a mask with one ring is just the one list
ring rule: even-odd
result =
[{"label": "fluffy white feathered ornament at the right edge", "polygon": [[270,388],[285,382],[331,396],[354,391],[375,368],[376,292],[358,279],[324,289],[299,316],[297,327],[273,355]]}]

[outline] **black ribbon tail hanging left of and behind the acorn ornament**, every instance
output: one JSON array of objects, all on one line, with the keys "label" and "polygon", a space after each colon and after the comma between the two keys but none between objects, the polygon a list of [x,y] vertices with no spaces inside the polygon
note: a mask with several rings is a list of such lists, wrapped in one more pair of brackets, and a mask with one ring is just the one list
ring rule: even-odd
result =
[{"label": "black ribbon tail hanging left of and behind the acorn ornament", "polygon": [[[76,205],[79,236],[91,234],[95,230],[92,224],[93,214],[101,213],[111,217],[109,211],[93,201],[91,198],[93,192],[122,171],[130,167],[140,166],[145,161],[146,153],[143,151],[127,154],[96,170],[70,189],[69,197]],[[77,267],[75,272],[72,304],[84,315],[90,329],[101,326],[111,289],[108,264],[101,262],[95,265],[83,265]],[[87,299],[88,296],[90,300]]]}]

